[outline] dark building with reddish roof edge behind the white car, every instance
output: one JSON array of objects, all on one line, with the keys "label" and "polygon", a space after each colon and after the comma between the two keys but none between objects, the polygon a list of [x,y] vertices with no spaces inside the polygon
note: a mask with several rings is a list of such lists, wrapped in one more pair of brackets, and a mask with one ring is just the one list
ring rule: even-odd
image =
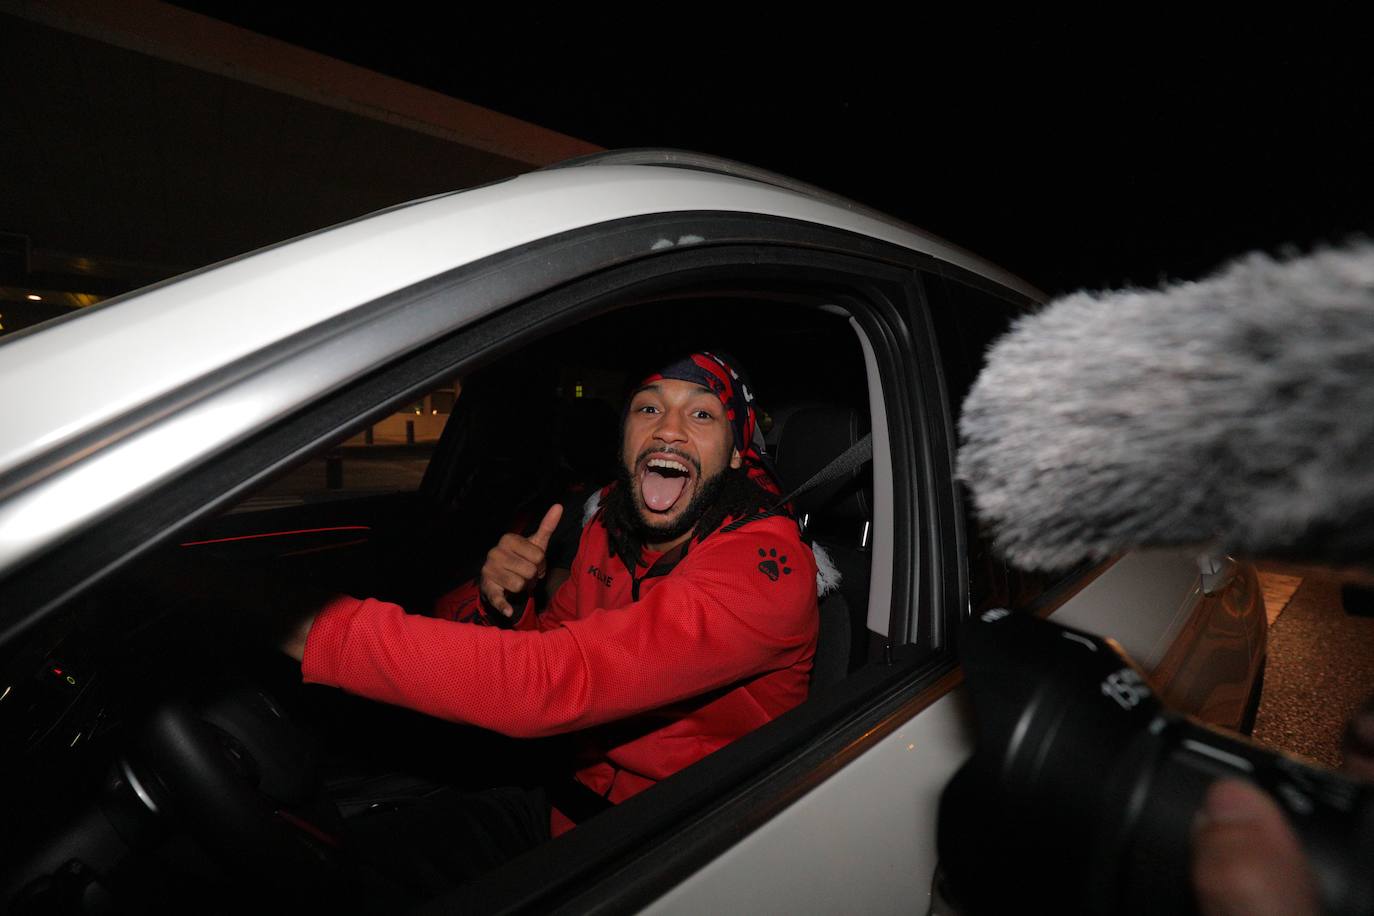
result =
[{"label": "dark building with reddish roof edge behind the white car", "polygon": [[0,111],[4,332],[598,148],[151,0],[0,3]]}]

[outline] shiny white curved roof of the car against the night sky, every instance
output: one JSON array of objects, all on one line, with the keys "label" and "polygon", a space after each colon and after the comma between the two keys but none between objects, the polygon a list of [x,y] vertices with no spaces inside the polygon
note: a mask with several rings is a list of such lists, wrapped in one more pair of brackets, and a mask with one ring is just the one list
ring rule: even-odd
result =
[{"label": "shiny white curved roof of the car against the night sky", "polygon": [[[16,559],[18,542],[34,547],[34,533],[12,529],[16,519],[7,518],[5,503],[45,477],[51,470],[43,467],[45,455],[60,453],[62,463],[80,460],[71,444],[99,439],[99,431],[118,417],[429,277],[570,231],[688,211],[761,214],[844,229],[1043,298],[992,264],[892,217],[697,154],[605,154],[415,201],[0,339],[0,390],[11,396],[0,424],[0,571]],[[276,417],[275,409],[262,405],[258,416],[236,416],[224,434],[261,428]],[[205,442],[205,455],[214,438]],[[187,450],[188,460],[194,450]],[[23,516],[32,523],[36,514]]]}]

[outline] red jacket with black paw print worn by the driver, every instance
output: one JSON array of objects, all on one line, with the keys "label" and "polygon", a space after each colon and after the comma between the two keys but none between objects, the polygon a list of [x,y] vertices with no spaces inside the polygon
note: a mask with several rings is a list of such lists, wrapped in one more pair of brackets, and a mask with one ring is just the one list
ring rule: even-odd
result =
[{"label": "red jacket with black paw print worn by the driver", "polygon": [[816,564],[790,519],[719,530],[646,575],[658,559],[632,575],[592,522],[548,610],[508,630],[338,597],[302,673],[511,736],[594,729],[577,779],[620,802],[797,706],[816,650]]}]

